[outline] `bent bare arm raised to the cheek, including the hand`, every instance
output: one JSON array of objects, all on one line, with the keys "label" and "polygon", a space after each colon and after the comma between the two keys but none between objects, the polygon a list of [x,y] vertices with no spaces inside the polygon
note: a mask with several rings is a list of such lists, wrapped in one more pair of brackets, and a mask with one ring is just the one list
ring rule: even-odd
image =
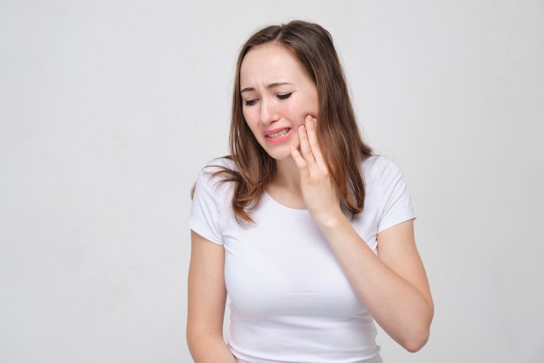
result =
[{"label": "bent bare arm raised to the cheek, including the hand", "polygon": [[340,208],[339,188],[317,143],[317,119],[298,128],[300,152],[291,155],[300,172],[302,197],[339,261],[353,291],[380,326],[409,352],[429,340],[433,300],[414,240],[414,220],[378,233],[378,256]]}]

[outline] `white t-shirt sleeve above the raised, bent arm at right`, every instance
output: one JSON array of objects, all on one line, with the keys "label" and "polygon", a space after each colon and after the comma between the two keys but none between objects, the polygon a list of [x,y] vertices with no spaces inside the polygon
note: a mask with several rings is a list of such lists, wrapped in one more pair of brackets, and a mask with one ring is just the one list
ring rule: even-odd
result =
[{"label": "white t-shirt sleeve above the raised, bent arm at right", "polygon": [[416,218],[412,198],[401,169],[395,162],[385,158],[383,158],[383,162],[385,162],[385,166],[381,175],[384,193],[381,201],[382,217],[378,223],[378,233],[404,222],[404,220]]}]

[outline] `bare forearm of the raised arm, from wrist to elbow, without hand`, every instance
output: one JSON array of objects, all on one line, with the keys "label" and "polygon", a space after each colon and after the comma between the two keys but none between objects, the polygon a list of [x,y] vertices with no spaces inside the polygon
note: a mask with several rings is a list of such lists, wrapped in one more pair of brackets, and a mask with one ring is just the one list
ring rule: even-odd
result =
[{"label": "bare forearm of the raised arm, from wrist to elbow, without hand", "polygon": [[404,348],[419,350],[429,339],[433,315],[426,298],[382,262],[346,218],[319,227],[373,318]]}]

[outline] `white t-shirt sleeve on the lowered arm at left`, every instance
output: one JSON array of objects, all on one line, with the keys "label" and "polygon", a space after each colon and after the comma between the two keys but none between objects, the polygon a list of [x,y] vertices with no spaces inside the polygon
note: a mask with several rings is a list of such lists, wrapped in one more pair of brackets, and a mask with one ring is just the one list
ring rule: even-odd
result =
[{"label": "white t-shirt sleeve on the lowered arm at left", "polygon": [[224,245],[220,224],[220,194],[215,185],[218,179],[210,178],[206,169],[200,170],[198,174],[187,225],[211,242]]}]

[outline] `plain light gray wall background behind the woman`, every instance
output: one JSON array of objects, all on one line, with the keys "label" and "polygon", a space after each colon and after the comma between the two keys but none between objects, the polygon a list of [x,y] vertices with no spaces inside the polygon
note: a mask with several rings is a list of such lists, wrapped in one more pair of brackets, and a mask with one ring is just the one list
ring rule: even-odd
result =
[{"label": "plain light gray wall background behind the woman", "polygon": [[0,362],[192,362],[189,189],[239,47],[294,18],[418,216],[431,338],[384,361],[544,362],[544,2],[468,0],[0,1]]}]

